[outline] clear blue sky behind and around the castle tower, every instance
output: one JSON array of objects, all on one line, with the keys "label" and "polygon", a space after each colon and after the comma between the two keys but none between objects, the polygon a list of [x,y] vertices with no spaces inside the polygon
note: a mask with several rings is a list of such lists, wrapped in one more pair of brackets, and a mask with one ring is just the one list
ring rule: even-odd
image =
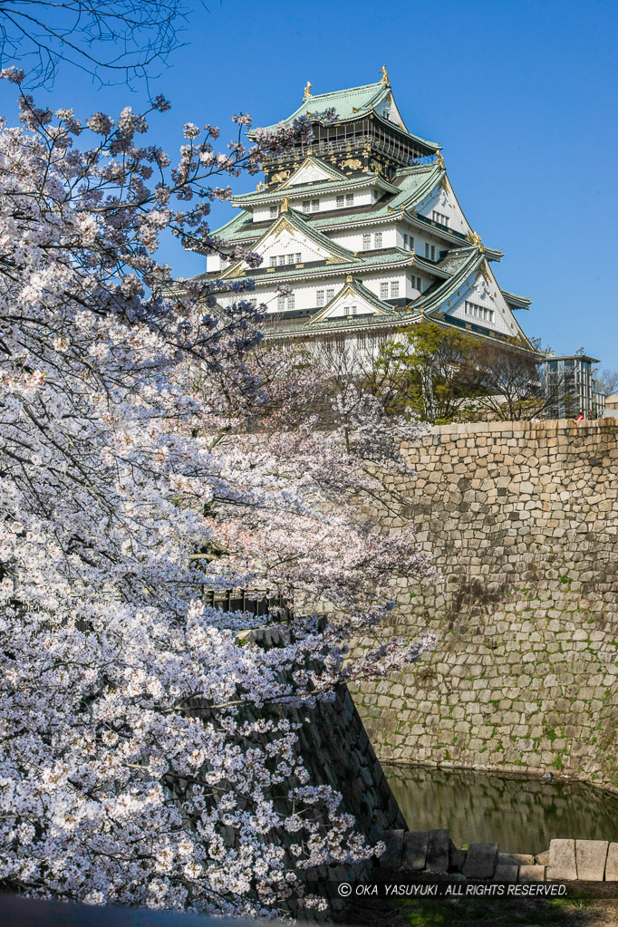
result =
[{"label": "clear blue sky behind and around the castle tower", "polygon": [[[268,125],[308,80],[314,93],[372,83],[385,64],[410,131],[440,142],[473,228],[503,249],[500,285],[534,299],[519,313],[525,331],[618,368],[615,0],[207,3],[187,0],[188,44],[151,85],[172,102],[154,121],[160,144],[181,144],[185,121],[225,133],[239,110]],[[113,114],[142,108],[146,91],[99,89],[66,70],[37,99]],[[0,106],[11,119],[6,84]],[[213,224],[232,214],[218,206]],[[185,276],[204,266],[171,246],[168,260]]]}]

